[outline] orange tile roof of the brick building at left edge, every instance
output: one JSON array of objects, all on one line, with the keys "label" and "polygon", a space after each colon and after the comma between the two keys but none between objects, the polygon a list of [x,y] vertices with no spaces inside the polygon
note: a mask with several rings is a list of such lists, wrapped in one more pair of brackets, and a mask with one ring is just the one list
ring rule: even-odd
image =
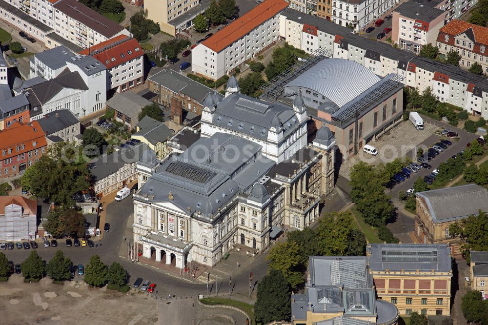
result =
[{"label": "orange tile roof of the brick building at left edge", "polygon": [[[32,145],[33,141],[37,142],[35,147]],[[24,145],[23,152],[47,145],[45,133],[42,131],[39,122],[14,122],[6,129],[0,131],[0,149],[14,148],[20,144]],[[15,149],[12,150],[13,156],[18,155],[19,153],[20,152],[17,152]]]}]

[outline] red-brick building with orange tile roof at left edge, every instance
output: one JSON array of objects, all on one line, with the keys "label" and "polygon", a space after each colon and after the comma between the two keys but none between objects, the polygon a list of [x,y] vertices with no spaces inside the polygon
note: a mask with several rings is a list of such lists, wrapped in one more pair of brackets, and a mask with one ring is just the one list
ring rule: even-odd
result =
[{"label": "red-brick building with orange tile roof at left edge", "polygon": [[47,146],[39,122],[14,122],[0,131],[0,178],[21,175],[37,162]]}]

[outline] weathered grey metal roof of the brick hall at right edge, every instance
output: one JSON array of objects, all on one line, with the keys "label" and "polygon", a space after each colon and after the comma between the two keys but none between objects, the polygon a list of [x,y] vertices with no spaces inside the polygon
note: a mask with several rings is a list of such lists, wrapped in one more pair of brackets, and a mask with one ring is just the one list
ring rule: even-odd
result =
[{"label": "weathered grey metal roof of the brick hall at right edge", "polygon": [[446,222],[488,212],[488,191],[476,184],[467,184],[418,192],[429,209],[432,221]]}]

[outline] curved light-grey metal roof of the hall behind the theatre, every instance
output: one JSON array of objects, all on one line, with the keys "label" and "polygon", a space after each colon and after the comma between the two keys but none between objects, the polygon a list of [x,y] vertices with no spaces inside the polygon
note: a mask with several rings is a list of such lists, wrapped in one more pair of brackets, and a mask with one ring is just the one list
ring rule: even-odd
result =
[{"label": "curved light-grey metal roof of the hall behind the theatre", "polygon": [[[311,89],[338,107],[346,105],[381,79],[354,61],[325,59],[288,82],[286,87]],[[286,91],[286,90],[285,90]]]}]

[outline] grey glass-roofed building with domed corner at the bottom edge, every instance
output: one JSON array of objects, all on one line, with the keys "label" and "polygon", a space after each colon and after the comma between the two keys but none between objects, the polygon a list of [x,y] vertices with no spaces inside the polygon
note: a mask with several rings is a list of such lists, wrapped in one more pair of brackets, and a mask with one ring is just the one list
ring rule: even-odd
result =
[{"label": "grey glass-roofed building with domed corner at the bottom edge", "polygon": [[293,325],[395,325],[398,309],[376,299],[364,256],[310,256],[305,294],[291,295]]}]

